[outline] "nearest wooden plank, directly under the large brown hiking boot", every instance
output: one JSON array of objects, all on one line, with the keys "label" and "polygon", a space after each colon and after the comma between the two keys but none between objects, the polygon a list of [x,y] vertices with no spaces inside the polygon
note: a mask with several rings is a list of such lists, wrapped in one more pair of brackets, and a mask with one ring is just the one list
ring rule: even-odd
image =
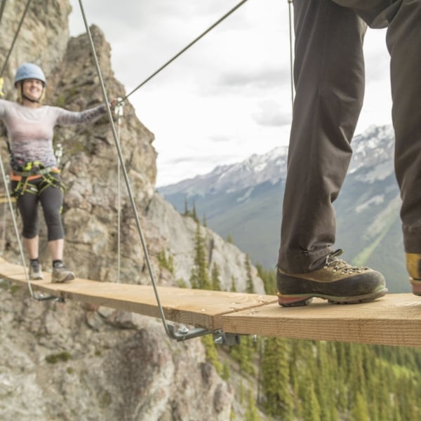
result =
[{"label": "nearest wooden plank, directly under the large brown hiking boot", "polygon": [[421,347],[421,297],[389,294],[358,305],[276,303],[222,316],[225,333]]}]

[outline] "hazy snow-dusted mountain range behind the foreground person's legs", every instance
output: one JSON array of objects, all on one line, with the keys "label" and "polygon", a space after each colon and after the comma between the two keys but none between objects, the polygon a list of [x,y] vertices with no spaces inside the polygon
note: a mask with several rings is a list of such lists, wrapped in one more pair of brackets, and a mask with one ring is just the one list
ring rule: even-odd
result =
[{"label": "hazy snow-dusted mountain range behind the foreground person's legs", "polygon": [[[336,246],[343,258],[380,270],[392,293],[410,291],[401,238],[401,199],[394,175],[392,126],[371,126],[352,140],[353,156],[340,196]],[[200,220],[230,239],[265,269],[274,269],[279,248],[287,147],[206,175],[160,187],[180,213]]]}]

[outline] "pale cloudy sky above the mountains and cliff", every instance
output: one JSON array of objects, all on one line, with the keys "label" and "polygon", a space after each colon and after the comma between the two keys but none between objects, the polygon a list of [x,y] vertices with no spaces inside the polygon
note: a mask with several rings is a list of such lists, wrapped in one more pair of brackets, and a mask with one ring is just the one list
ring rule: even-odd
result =
[{"label": "pale cloudy sky above the mountains and cliff", "polygon": [[[71,36],[86,32],[69,0]],[[81,1],[112,48],[126,92],[222,18],[239,0]],[[156,186],[288,145],[291,121],[287,0],[248,0],[128,100],[155,135]],[[368,29],[366,95],[356,134],[392,124],[385,30]]]}]

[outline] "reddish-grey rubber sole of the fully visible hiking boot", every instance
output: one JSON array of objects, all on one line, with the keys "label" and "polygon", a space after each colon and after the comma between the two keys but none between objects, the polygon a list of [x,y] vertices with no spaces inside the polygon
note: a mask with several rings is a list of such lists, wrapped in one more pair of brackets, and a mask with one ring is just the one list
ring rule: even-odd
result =
[{"label": "reddish-grey rubber sole of the fully visible hiking boot", "polygon": [[[282,295],[278,293],[278,303],[281,307],[301,307],[309,305],[313,298],[322,298],[328,300],[331,304],[360,304],[370,302],[382,297],[387,293],[387,288],[381,287],[380,290],[365,295],[354,295],[352,297],[335,297],[334,295],[326,295],[320,293],[298,294],[298,295]],[[421,295],[421,290],[420,290]]]}]

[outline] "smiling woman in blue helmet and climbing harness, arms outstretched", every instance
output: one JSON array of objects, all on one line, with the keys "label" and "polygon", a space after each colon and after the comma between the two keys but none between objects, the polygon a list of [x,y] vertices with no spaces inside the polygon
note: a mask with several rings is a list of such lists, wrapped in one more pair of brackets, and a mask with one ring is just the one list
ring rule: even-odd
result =
[{"label": "smiling woman in blue helmet and climbing harness, arms outstretched", "polygon": [[42,105],[46,78],[40,67],[25,63],[15,75],[17,102],[0,100],[0,119],[4,121],[11,151],[11,189],[22,216],[22,243],[29,255],[29,278],[42,279],[39,264],[38,203],[44,211],[48,248],[53,260],[52,282],[74,279],[62,262],[64,230],[61,208],[63,187],[53,151],[55,125],[95,121],[107,110],[105,105],[82,112]]}]

